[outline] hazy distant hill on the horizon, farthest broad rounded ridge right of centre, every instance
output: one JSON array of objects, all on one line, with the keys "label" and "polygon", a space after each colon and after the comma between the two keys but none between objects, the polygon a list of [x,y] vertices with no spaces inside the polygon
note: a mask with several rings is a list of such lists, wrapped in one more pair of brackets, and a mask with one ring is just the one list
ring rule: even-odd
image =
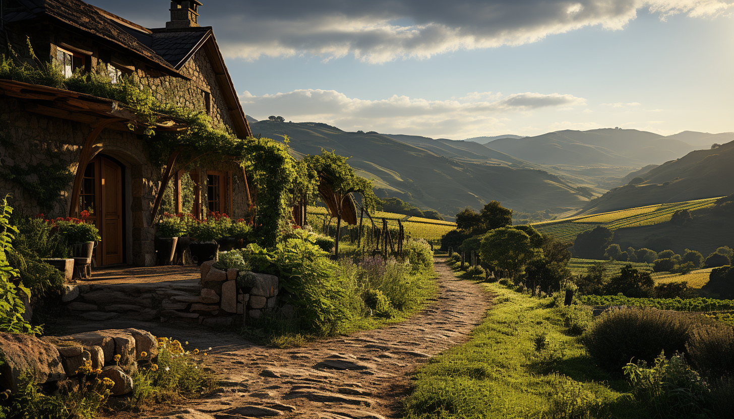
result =
[{"label": "hazy distant hill on the horizon, farthest broad rounded ridge right of centre", "polygon": [[697,147],[680,139],[635,129],[555,131],[520,139],[495,139],[487,147],[537,164],[643,167],[677,159]]}]

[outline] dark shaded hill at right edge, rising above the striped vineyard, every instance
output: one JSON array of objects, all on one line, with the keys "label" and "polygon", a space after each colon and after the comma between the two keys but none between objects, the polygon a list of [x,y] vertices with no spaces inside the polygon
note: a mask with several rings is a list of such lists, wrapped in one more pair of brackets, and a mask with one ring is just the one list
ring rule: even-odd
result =
[{"label": "dark shaded hill at right edge, rising above the striped vineyard", "polygon": [[639,177],[645,181],[611,189],[589,202],[578,215],[732,194],[734,141],[714,149],[693,151]]}]

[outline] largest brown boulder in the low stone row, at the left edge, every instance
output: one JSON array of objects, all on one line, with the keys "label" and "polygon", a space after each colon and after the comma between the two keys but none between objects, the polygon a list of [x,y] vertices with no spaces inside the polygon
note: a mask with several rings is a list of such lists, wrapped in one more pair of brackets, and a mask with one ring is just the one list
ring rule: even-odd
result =
[{"label": "largest brown boulder in the low stone row, at the left edge", "polygon": [[4,365],[0,366],[0,388],[18,390],[21,375],[29,372],[34,382],[65,379],[59,350],[51,343],[29,335],[0,332]]}]

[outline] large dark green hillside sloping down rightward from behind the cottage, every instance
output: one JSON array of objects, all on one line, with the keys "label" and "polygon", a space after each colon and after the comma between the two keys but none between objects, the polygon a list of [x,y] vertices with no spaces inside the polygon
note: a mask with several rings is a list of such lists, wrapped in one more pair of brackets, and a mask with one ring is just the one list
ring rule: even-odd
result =
[{"label": "large dark green hillside sloping down rightward from behind the cottage", "polygon": [[250,126],[256,135],[273,139],[288,135],[299,153],[318,154],[323,147],[352,156],[349,164],[374,179],[378,196],[399,197],[449,217],[467,206],[479,210],[490,200],[518,211],[561,212],[580,208],[594,196],[476,142],[352,133],[324,123],[260,121]]}]

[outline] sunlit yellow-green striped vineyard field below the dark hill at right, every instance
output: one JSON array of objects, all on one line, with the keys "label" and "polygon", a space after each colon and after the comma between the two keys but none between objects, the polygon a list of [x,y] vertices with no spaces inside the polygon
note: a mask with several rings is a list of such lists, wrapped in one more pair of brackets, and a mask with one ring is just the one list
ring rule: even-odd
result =
[{"label": "sunlit yellow-green striped vineyard field below the dark hill at right", "polygon": [[696,211],[702,208],[708,208],[718,199],[717,197],[707,198],[705,200],[685,201],[682,203],[647,205],[604,214],[581,215],[536,222],[531,225],[540,233],[548,234],[561,241],[573,241],[579,234],[598,226],[607,227],[610,230],[617,230],[618,228],[641,227],[667,222],[670,221],[675,211]]}]

